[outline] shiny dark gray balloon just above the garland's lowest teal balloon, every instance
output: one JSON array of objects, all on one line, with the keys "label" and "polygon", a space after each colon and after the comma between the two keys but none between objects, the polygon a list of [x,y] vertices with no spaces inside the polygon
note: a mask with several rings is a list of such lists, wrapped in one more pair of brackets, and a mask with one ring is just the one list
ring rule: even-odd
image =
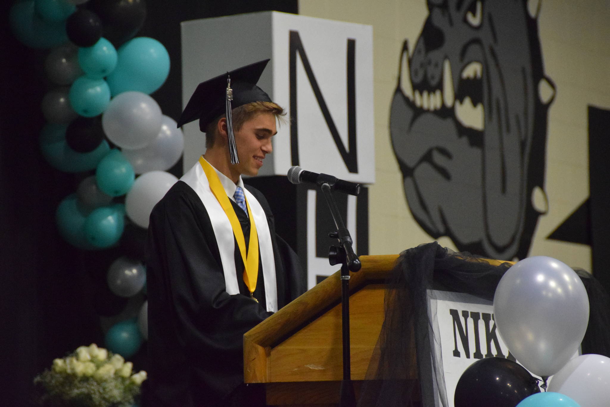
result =
[{"label": "shiny dark gray balloon just above the garland's lowest teal balloon", "polygon": [[132,297],[138,294],[146,283],[146,269],[141,262],[121,256],[110,265],[107,282],[114,294],[119,297]]}]

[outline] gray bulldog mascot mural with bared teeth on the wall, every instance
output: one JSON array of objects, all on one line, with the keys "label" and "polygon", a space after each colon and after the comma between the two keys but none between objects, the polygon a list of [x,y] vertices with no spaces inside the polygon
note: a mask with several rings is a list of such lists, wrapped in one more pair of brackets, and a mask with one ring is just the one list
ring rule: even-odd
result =
[{"label": "gray bulldog mascot mural with bared teeth on the wall", "polygon": [[527,256],[544,192],[547,113],[538,1],[429,0],[404,41],[390,112],[407,204],[435,239]]}]

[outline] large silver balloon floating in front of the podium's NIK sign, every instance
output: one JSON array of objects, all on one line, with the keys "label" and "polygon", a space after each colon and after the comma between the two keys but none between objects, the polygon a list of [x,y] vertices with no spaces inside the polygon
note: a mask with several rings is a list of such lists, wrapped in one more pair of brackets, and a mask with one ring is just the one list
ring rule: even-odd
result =
[{"label": "large silver balloon floating in front of the podium's NIK sign", "polygon": [[589,297],[568,265],[547,256],[517,262],[493,297],[500,336],[512,355],[539,376],[557,373],[576,353],[589,323]]}]

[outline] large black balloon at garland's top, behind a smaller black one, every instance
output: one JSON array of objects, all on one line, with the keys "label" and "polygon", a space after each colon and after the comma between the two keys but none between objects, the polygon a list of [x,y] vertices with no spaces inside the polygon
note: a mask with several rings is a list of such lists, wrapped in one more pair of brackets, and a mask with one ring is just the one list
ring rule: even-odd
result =
[{"label": "large black balloon at garland's top, behind a smaller black one", "polygon": [[101,18],[104,38],[115,46],[131,40],[146,20],[144,0],[90,0],[86,7]]}]

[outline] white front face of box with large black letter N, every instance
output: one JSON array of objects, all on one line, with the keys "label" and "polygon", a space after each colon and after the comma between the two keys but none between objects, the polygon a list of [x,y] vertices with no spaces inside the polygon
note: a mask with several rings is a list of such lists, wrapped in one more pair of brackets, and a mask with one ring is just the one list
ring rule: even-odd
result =
[{"label": "white front face of box with large black letter N", "polygon": [[290,166],[374,182],[370,27],[304,18],[286,34]]}]

